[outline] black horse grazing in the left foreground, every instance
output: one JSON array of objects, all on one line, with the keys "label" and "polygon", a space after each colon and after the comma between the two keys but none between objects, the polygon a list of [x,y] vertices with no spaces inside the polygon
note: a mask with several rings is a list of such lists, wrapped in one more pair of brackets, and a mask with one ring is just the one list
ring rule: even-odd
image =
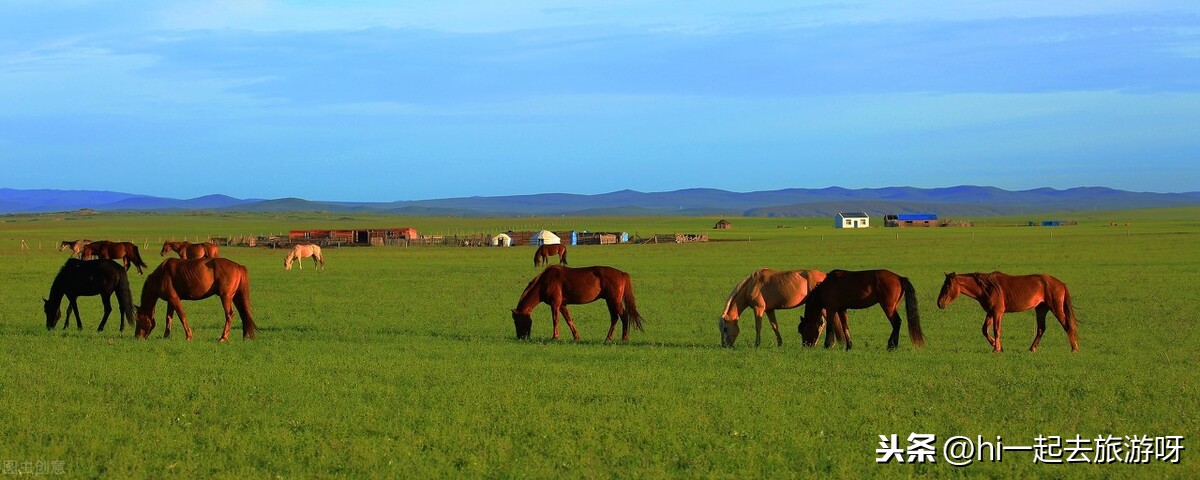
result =
[{"label": "black horse grazing in the left foreground", "polygon": [[62,323],[62,329],[71,326],[71,312],[76,314],[76,326],[83,330],[83,320],[79,319],[79,305],[76,304],[78,296],[101,295],[104,302],[104,318],[100,320],[96,331],[104,331],[108,323],[108,314],[113,312],[110,296],[116,293],[116,305],[121,310],[121,331],[125,331],[126,322],[133,324],[133,294],[130,293],[130,277],[121,265],[113,260],[80,260],[68,258],[67,263],[59,269],[59,275],[50,284],[50,298],[42,299],[42,311],[46,312],[46,330],[50,330],[62,317],[62,298],[67,298],[67,319]]}]

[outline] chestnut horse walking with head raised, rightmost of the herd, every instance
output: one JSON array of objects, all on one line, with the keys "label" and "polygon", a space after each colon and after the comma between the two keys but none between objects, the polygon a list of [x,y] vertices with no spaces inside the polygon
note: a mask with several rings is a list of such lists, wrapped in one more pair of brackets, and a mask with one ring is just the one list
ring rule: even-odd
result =
[{"label": "chestnut horse walking with head raised, rightmost of the herd", "polygon": [[[1033,337],[1030,352],[1038,350],[1042,334],[1046,331],[1046,312],[1054,312],[1055,318],[1067,331],[1070,350],[1079,352],[1078,330],[1075,329],[1075,310],[1070,306],[1070,293],[1067,284],[1045,274],[1006,275],[998,271],[991,274],[946,274],[942,292],[937,294],[937,307],[946,308],[959,294],[967,295],[979,302],[986,313],[983,320],[983,336],[988,338],[992,352],[1001,352],[1000,323],[1004,312],[1024,312],[1033,308],[1038,316],[1038,332]],[[988,332],[991,326],[992,335]]]}]

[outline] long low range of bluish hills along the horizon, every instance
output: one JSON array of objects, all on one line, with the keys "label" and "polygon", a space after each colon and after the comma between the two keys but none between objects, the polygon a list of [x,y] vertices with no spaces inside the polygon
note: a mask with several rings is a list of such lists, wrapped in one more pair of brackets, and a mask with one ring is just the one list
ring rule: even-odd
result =
[{"label": "long low range of bluish hills along the horizon", "polygon": [[1106,187],[1008,191],[996,187],[786,188],[728,192],[623,190],[601,194],[539,193],[390,203],[313,202],[301,198],[239,199],[211,194],[191,199],[83,190],[0,188],[0,214],[98,211],[325,211],[425,216],[774,216],[824,217],[839,211],[871,215],[936,212],[942,217],[1130,210],[1200,205],[1200,192],[1148,193]]}]

